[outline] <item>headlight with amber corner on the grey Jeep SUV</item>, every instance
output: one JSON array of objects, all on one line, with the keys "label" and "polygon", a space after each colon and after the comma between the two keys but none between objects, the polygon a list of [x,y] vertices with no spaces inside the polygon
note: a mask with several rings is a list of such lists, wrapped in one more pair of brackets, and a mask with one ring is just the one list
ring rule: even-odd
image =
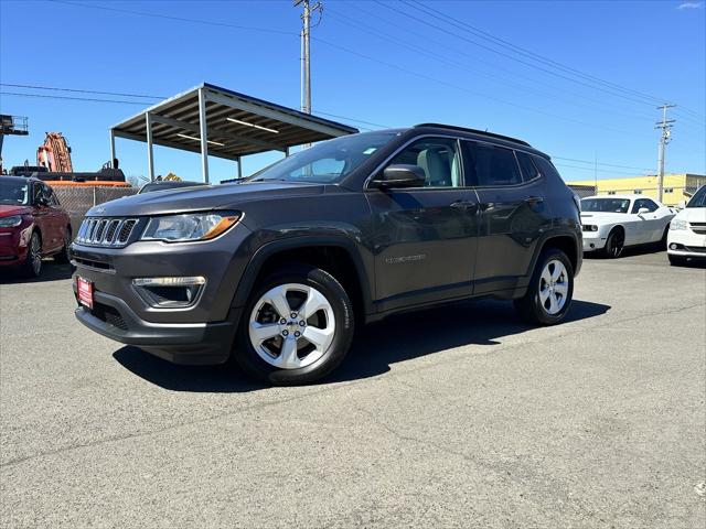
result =
[{"label": "headlight with amber corner on the grey Jeep SUV", "polygon": [[234,212],[188,213],[153,217],[145,228],[140,240],[185,242],[208,240],[227,231],[240,215]]}]

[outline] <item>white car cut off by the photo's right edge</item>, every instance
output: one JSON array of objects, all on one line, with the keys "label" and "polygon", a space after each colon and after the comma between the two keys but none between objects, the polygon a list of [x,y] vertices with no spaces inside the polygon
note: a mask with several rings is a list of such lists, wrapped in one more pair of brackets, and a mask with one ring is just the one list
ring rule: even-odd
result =
[{"label": "white car cut off by the photo's right edge", "polygon": [[706,185],[672,220],[666,252],[672,264],[683,264],[688,258],[706,259]]}]

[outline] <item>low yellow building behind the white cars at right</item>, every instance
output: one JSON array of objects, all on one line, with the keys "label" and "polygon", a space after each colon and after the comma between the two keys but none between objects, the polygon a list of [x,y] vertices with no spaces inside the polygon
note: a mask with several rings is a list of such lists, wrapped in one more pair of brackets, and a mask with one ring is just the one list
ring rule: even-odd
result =
[{"label": "low yellow building behind the white cars at right", "polygon": [[[598,195],[645,195],[651,198],[657,198],[657,177],[649,176],[629,176],[622,179],[605,179],[605,180],[579,180],[567,182],[569,185],[590,185],[598,184]],[[706,176],[703,174],[665,174],[664,175],[664,195],[662,202],[667,206],[676,206],[680,202],[688,202],[689,197],[702,185],[706,185]]]}]

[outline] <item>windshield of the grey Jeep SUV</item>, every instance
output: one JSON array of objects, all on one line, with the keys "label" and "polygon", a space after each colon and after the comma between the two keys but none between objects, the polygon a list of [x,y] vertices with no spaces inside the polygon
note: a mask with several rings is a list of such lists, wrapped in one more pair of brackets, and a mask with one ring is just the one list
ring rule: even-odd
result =
[{"label": "windshield of the grey Jeep SUV", "polygon": [[323,141],[264,169],[248,181],[281,180],[319,184],[340,182],[395,134],[396,132],[364,132]]}]

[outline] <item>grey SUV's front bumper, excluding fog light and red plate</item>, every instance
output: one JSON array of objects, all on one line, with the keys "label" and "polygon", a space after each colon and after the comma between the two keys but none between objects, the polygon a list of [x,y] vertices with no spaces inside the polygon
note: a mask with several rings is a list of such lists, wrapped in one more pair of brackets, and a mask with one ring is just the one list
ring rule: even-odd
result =
[{"label": "grey SUV's front bumper, excluding fog light and red plate", "polygon": [[[125,248],[72,245],[76,277],[94,285],[94,307],[78,305],[75,315],[90,330],[135,345],[176,364],[218,364],[233,346],[242,307],[232,306],[249,250],[244,226],[207,242],[170,245],[132,242]],[[132,280],[203,277],[190,306],[152,306]]]}]

